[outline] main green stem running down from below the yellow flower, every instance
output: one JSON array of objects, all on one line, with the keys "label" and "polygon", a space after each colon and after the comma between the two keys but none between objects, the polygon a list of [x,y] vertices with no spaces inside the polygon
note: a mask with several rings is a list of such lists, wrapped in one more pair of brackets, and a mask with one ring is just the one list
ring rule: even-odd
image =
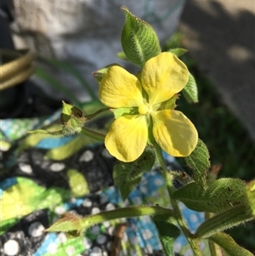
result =
[{"label": "main green stem running down from below the yellow flower", "polygon": [[196,241],[193,237],[192,234],[190,233],[190,230],[188,229],[188,227],[186,226],[182,213],[180,211],[180,209],[178,208],[178,202],[175,201],[172,197],[173,192],[174,192],[174,187],[173,187],[173,182],[172,179],[169,179],[169,177],[167,177],[167,166],[166,163],[164,161],[164,158],[162,156],[162,152],[161,152],[161,148],[159,145],[155,145],[155,152],[156,152],[156,159],[161,167],[161,173],[163,178],[166,181],[166,185],[167,185],[167,191],[168,191],[168,195],[170,197],[170,202],[172,204],[173,207],[173,213],[175,215],[175,218],[178,222],[178,225],[180,227],[180,229],[183,231],[184,236],[186,237],[186,239],[188,240],[188,242],[190,243],[190,247],[192,248],[195,256],[201,256],[201,250],[200,247],[198,246],[198,241]]}]

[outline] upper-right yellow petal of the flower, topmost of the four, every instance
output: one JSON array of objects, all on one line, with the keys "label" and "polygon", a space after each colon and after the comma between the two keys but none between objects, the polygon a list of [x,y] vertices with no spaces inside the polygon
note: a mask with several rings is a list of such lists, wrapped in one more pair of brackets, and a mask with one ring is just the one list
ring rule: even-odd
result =
[{"label": "upper-right yellow petal of the flower, topmost of the four", "polygon": [[189,80],[189,71],[184,63],[172,53],[161,53],[148,60],[141,74],[144,90],[149,95],[150,105],[173,97]]}]

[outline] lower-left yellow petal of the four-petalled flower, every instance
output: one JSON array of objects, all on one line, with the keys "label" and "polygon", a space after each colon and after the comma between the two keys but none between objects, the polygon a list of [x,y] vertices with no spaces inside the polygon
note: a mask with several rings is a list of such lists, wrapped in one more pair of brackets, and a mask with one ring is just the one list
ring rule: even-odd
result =
[{"label": "lower-left yellow petal of the four-petalled flower", "polygon": [[144,152],[147,139],[146,117],[127,115],[111,124],[110,131],[105,137],[105,146],[118,160],[133,162]]}]

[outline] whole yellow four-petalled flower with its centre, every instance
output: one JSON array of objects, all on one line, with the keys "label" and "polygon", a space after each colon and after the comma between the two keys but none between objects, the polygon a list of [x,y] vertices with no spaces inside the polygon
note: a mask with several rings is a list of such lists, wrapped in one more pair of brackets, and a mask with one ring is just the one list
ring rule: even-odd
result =
[{"label": "whole yellow four-petalled flower with its centre", "polygon": [[111,66],[99,84],[99,99],[116,116],[105,137],[111,155],[133,162],[144,152],[152,130],[168,154],[189,156],[197,144],[197,131],[182,112],[173,110],[188,79],[186,65],[171,53],[148,60],[138,77]]}]

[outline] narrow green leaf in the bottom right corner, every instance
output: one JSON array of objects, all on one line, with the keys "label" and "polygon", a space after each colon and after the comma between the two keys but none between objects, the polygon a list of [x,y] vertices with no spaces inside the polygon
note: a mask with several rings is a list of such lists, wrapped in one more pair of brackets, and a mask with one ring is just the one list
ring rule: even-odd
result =
[{"label": "narrow green leaf in the bottom right corner", "polygon": [[218,233],[213,236],[210,236],[209,239],[212,242],[218,244],[218,246],[222,247],[226,253],[229,255],[238,255],[238,256],[253,256],[253,254],[247,251],[245,248],[239,246],[234,239],[225,234],[225,233]]}]

